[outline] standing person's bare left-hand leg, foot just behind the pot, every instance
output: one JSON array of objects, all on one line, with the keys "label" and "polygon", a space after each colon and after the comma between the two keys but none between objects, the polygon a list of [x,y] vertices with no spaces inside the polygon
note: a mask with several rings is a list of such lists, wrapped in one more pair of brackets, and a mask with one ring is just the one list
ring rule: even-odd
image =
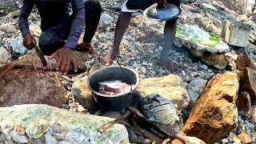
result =
[{"label": "standing person's bare left-hand leg, foot just behind the pot", "polygon": [[[119,46],[122,40],[123,34],[125,34],[127,27],[130,23],[131,13],[122,12],[119,15],[117,25],[114,31],[114,44],[112,48],[107,52],[106,56],[102,59],[102,64],[110,66],[114,60],[114,55],[120,54]],[[114,54],[112,54],[114,53]]]}]

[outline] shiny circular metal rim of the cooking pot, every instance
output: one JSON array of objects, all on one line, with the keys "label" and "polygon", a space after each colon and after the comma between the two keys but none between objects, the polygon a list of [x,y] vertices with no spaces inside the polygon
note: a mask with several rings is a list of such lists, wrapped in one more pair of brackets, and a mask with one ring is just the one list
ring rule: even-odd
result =
[{"label": "shiny circular metal rim of the cooking pot", "polygon": [[[108,68],[110,68],[110,67],[120,67],[120,66],[107,66],[107,67],[104,67],[104,68],[99,69],[99,70],[108,69]],[[136,83],[134,84],[134,86],[131,86],[131,91],[134,91],[134,90],[136,89],[136,87],[138,86],[138,82],[139,82],[138,74],[137,74],[134,70],[130,69],[129,67],[126,67],[126,66],[121,66],[121,67],[122,67],[122,68],[125,68],[125,69],[127,69],[127,70],[130,70],[130,71],[132,71],[132,72],[135,74],[135,76],[136,76],[136,78],[137,78],[137,81],[136,81]],[[102,96],[102,97],[109,97],[109,98],[120,97],[120,96],[124,96],[124,95],[126,95],[126,94],[130,94],[131,91],[126,92],[126,93],[122,93],[122,94],[116,94],[116,95],[111,95],[111,96],[110,96],[110,95],[107,95],[107,94],[100,94],[100,93],[98,93],[97,91],[93,90],[93,88],[90,87],[90,78],[91,78],[94,74],[96,74],[99,70],[94,71],[94,73],[93,73],[93,74],[90,74],[89,78],[87,79],[87,86],[89,87],[90,91],[91,91],[93,94],[97,94],[97,95],[99,95],[99,96]]]}]

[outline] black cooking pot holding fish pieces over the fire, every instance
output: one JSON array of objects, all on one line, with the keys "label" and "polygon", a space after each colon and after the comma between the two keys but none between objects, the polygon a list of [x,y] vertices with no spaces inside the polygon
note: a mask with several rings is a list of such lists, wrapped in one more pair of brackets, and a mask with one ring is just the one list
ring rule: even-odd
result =
[{"label": "black cooking pot holding fish pieces over the fire", "polygon": [[[95,101],[104,110],[123,110],[131,105],[135,88],[138,86],[138,74],[125,66],[108,66],[100,70],[96,70],[88,78],[88,87],[92,91]],[[123,70],[123,72],[122,72]],[[116,95],[100,94],[99,82],[121,80],[127,84],[134,85],[130,92]]]}]

